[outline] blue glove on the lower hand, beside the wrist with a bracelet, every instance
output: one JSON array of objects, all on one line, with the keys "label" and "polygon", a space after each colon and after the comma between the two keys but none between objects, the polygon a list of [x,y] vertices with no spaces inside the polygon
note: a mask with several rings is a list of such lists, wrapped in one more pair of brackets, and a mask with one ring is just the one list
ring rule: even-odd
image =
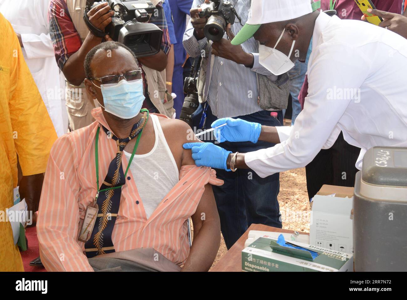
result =
[{"label": "blue glove on the lower hand, beside the wrist with a bracelet", "polygon": [[229,153],[232,153],[231,151],[227,151],[212,143],[185,143],[183,147],[184,149],[192,150],[192,159],[198,167],[204,165],[206,167],[230,171],[226,166],[226,160]]}]

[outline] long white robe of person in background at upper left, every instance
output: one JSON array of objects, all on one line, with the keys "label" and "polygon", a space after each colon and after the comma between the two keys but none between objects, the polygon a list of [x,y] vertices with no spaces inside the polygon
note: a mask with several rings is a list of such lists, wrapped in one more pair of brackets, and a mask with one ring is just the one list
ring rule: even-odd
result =
[{"label": "long white robe of person in background at upper left", "polygon": [[44,100],[58,137],[63,127],[63,110],[59,68],[55,61],[48,27],[50,0],[0,0],[0,12],[21,34],[22,53],[35,84]]}]

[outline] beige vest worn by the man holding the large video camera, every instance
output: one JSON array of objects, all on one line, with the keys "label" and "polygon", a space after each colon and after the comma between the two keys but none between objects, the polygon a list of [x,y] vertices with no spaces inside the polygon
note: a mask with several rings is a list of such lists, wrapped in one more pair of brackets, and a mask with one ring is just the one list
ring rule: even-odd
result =
[{"label": "beige vest worn by the man holding the large video camera", "polygon": [[[162,4],[162,0],[151,0],[151,2],[153,2],[154,5],[157,5],[158,3]],[[83,12],[85,11],[86,0],[66,0],[66,4],[68,5],[68,10],[72,18],[72,22],[75,26],[75,29],[78,31],[83,42],[89,33],[88,26],[86,26],[86,23],[83,20]],[[148,84],[148,94],[151,102],[158,110],[158,113],[172,118],[175,113],[175,109],[173,108],[174,100],[169,93],[166,93],[165,70],[159,72],[151,68],[148,68],[147,66],[142,66],[142,68],[146,75],[146,80]],[[77,88],[76,86],[73,86],[72,84],[69,83],[67,83],[67,86],[70,88]],[[82,83],[80,87],[84,88],[85,85]],[[167,102],[165,104],[164,99],[167,99]],[[73,105],[76,104],[77,103],[74,103]],[[72,106],[72,104],[69,105]]]}]

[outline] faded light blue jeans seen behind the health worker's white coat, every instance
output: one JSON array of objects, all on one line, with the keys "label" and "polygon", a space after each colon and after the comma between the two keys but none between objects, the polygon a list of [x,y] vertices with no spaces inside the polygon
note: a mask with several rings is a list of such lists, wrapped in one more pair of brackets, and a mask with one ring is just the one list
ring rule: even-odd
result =
[{"label": "faded light blue jeans seen behind the health worker's white coat", "polygon": [[[306,65],[306,63],[297,60],[297,62],[295,62],[294,68],[288,72],[290,75],[290,94],[293,106],[291,125],[294,125],[295,119],[301,113],[301,104],[300,101],[298,101],[298,95],[300,95],[302,84],[304,84],[307,68],[308,66]],[[285,113],[285,111],[283,111],[283,113]]]}]

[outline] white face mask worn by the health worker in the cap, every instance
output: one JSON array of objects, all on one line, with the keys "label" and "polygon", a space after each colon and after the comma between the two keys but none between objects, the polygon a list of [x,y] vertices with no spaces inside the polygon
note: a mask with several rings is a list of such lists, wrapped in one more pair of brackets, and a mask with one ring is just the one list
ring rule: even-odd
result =
[{"label": "white face mask worn by the health worker in the cap", "polygon": [[276,46],[274,48],[267,47],[265,45],[259,45],[259,63],[269,70],[274,75],[281,75],[290,71],[295,64],[290,60],[291,53],[293,53],[295,41],[291,46],[289,55],[285,55],[281,51],[276,49],[277,44],[280,42],[282,36],[284,35],[285,29],[283,29],[280,38],[278,39]]}]

